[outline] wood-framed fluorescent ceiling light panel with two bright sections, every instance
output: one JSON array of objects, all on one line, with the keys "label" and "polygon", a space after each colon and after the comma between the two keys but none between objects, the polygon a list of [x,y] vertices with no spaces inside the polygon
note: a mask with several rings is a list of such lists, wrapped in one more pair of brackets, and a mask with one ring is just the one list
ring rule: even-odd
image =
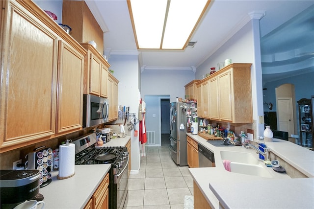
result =
[{"label": "wood-framed fluorescent ceiling light panel with two bright sections", "polygon": [[127,0],[139,49],[184,49],[210,0]]}]

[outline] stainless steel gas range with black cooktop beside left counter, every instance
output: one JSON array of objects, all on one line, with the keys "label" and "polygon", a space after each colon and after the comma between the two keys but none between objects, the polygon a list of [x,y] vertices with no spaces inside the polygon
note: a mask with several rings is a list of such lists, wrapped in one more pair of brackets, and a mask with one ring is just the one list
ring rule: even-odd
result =
[{"label": "stainless steel gas range with black cooktop beside left counter", "polygon": [[[128,202],[129,153],[126,147],[95,147],[96,134],[75,141],[75,164],[111,164],[109,170],[109,209],[123,209]],[[92,174],[94,175],[94,174]]]}]

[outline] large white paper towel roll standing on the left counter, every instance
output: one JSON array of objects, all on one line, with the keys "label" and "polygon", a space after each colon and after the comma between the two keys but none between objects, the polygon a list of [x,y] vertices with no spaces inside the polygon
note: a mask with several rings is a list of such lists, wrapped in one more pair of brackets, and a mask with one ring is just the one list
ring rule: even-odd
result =
[{"label": "large white paper towel roll standing on the left counter", "polygon": [[61,144],[59,146],[59,174],[58,179],[67,179],[75,174],[75,144]]}]

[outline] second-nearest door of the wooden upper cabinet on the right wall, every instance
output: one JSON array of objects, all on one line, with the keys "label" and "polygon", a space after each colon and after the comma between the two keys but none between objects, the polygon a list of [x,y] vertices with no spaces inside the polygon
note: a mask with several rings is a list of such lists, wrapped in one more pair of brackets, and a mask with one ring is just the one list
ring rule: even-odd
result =
[{"label": "second-nearest door of the wooden upper cabinet on the right wall", "polygon": [[218,112],[218,79],[213,77],[209,80],[209,113],[210,119],[219,119]]}]

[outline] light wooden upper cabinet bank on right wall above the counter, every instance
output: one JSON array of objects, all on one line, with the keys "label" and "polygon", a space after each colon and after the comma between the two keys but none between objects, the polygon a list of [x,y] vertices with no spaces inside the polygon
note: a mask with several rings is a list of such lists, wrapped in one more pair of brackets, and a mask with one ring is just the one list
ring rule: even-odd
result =
[{"label": "light wooden upper cabinet bank on right wall above the counter", "polygon": [[[198,93],[202,102],[197,106],[198,110],[201,108],[201,116],[232,123],[253,122],[251,65],[234,63],[197,82],[197,87],[202,87],[202,93]],[[208,93],[203,88],[207,84]],[[207,95],[208,105],[204,102]]]}]

